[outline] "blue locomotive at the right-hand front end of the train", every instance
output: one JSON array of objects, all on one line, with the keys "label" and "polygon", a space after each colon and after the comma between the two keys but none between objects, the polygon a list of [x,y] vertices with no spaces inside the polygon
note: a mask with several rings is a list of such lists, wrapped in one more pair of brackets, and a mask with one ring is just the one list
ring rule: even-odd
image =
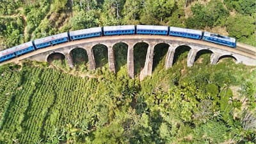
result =
[{"label": "blue locomotive at the right-hand front end of the train", "polygon": [[236,39],[230,38],[228,36],[221,36],[220,34],[214,34],[211,32],[204,32],[204,36],[202,38],[204,41],[210,41],[212,43],[218,43],[220,45],[227,45],[228,47],[236,47]]}]

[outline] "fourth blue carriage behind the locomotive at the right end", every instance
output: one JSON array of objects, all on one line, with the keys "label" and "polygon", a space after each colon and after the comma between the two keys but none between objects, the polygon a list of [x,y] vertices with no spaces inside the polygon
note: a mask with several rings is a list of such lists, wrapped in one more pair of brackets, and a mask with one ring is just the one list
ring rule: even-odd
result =
[{"label": "fourth blue carriage behind the locomotive at the right end", "polygon": [[69,32],[70,40],[80,40],[83,38],[92,38],[102,36],[102,27],[93,27],[90,29],[81,29]]}]

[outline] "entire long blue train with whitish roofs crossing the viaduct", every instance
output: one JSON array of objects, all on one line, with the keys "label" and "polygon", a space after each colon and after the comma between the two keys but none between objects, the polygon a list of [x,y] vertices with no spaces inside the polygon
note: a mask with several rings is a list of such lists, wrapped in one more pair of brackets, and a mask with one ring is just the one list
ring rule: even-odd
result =
[{"label": "entire long blue train with whitish roofs crossing the viaduct", "polygon": [[81,40],[84,38],[93,38],[97,36],[113,36],[122,34],[156,34],[166,36],[179,36],[182,38],[191,38],[195,40],[204,40],[228,47],[236,47],[236,39],[211,32],[203,32],[195,29],[184,29],[180,27],[168,27],[161,25],[116,25],[106,27],[93,27],[90,29],[81,29],[77,31],[63,32],[45,38],[29,41],[21,45],[8,48],[0,52],[0,62],[7,61],[13,57],[26,54],[33,50],[58,45],[67,41]]}]

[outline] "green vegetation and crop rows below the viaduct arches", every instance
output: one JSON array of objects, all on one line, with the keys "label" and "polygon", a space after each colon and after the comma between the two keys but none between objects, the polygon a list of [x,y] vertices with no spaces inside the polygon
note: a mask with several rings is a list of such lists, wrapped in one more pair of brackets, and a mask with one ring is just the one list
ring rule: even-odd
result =
[{"label": "green vegetation and crop rows below the viaduct arches", "polygon": [[[212,66],[210,54],[188,68],[188,51],[180,51],[166,71],[163,48],[156,48],[154,73],[142,82],[127,76],[123,57],[116,58],[116,75],[106,70],[108,64],[94,72],[83,63],[68,69],[65,61],[3,67],[0,142],[255,141],[255,68],[232,59]],[[125,45],[114,49],[125,57]]]}]

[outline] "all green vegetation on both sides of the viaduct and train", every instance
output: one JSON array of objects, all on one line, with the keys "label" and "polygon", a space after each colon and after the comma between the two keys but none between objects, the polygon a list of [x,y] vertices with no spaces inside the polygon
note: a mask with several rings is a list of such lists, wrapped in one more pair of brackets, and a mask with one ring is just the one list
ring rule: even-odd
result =
[{"label": "all green vegetation on both sides of the viaduct and train", "polygon": [[[0,0],[1,49],[88,27],[124,24],[202,29],[256,46],[254,0]],[[0,67],[0,143],[256,143],[256,68],[198,52],[154,49],[153,73],[140,81],[147,43],[134,46],[135,78],[127,76],[127,45],[113,46],[117,73],[108,70],[108,48],[93,47],[89,70],[83,48],[49,62]]]}]

